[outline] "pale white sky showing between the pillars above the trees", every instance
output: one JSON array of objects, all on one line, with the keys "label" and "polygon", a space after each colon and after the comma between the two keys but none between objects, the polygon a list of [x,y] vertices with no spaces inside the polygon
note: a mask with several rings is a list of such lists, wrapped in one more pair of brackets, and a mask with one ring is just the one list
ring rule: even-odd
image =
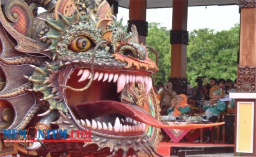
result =
[{"label": "pale white sky showing between the pillars above the trees", "polygon": [[[148,23],[157,22],[172,29],[172,8],[147,9]],[[119,7],[117,20],[123,18],[123,25],[129,20],[129,10]],[[209,28],[215,31],[228,30],[240,23],[239,6],[192,6],[188,8],[187,30]]]}]

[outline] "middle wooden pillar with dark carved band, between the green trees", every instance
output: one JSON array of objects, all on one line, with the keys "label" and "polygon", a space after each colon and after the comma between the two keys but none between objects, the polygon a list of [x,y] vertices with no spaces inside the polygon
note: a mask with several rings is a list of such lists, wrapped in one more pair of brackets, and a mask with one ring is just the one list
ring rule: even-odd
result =
[{"label": "middle wooden pillar with dark carved band, between the green trees", "polygon": [[186,94],[186,46],[188,45],[187,14],[188,0],[172,1],[172,31],[171,31],[171,77],[173,90],[177,94]]}]

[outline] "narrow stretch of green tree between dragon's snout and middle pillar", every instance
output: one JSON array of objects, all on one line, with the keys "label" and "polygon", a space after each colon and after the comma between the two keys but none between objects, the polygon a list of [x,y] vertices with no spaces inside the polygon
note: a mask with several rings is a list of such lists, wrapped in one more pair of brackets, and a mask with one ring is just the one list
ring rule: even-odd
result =
[{"label": "narrow stretch of green tree between dragon's snout and middle pillar", "polygon": [[[171,45],[170,31],[166,27],[161,27],[160,23],[148,23],[148,37],[146,45],[151,46],[158,52],[158,68],[155,83],[165,83],[170,76],[171,65]],[[155,55],[149,52],[149,58],[155,61]]]}]

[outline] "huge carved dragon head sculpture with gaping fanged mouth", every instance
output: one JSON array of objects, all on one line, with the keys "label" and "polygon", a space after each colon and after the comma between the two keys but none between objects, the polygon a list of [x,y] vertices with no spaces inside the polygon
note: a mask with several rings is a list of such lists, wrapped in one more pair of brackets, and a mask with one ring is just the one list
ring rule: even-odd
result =
[{"label": "huge carved dragon head sculpture with gaping fanged mouth", "polygon": [[[35,3],[49,13],[33,15]],[[158,154],[160,127],[179,126],[159,121],[151,79],[158,69],[148,58],[151,48],[139,43],[136,27],[128,34],[105,0],[32,4],[10,0],[0,11],[0,129],[91,130],[91,143],[67,139],[45,143],[46,148],[32,143],[24,153],[28,149],[54,157]],[[12,20],[14,13],[20,18]]]}]

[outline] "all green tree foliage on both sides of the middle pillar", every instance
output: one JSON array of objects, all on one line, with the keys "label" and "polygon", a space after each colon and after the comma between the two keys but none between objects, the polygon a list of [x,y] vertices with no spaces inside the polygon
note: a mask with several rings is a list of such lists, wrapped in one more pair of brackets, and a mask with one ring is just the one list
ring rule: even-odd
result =
[{"label": "all green tree foliage on both sides of the middle pillar", "polygon": [[[170,76],[171,45],[170,31],[161,27],[159,23],[148,24],[146,45],[158,52],[159,71],[155,82],[165,83]],[[230,30],[217,31],[212,29],[198,29],[189,33],[187,46],[187,77],[192,86],[196,86],[198,76],[216,79],[236,79],[237,53],[239,51],[239,24]],[[149,54],[155,60],[153,53]]]}]

